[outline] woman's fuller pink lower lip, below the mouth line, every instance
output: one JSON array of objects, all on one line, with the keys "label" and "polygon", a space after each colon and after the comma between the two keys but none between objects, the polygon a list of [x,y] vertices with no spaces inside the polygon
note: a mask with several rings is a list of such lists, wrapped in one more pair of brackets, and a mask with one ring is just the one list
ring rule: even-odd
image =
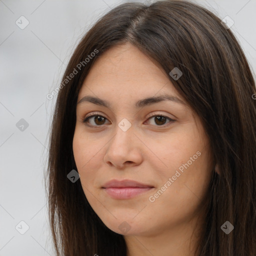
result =
[{"label": "woman's fuller pink lower lip, below the mouth line", "polygon": [[114,199],[128,199],[152,188],[153,187],[106,187],[104,189],[107,194]]}]

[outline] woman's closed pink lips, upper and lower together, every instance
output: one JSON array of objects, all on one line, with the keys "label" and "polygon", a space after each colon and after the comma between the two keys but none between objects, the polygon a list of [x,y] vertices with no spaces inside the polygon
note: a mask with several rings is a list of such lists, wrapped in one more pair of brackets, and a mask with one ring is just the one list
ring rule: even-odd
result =
[{"label": "woman's closed pink lips, upper and lower together", "polygon": [[106,193],[114,199],[129,199],[136,195],[145,193],[153,187],[154,186],[152,185],[129,179],[112,179],[102,186]]}]

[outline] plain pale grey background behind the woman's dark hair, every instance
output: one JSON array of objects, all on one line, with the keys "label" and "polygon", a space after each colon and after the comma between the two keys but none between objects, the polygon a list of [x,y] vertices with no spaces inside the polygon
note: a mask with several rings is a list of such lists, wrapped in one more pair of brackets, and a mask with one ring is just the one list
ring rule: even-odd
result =
[{"label": "plain pale grey background behind the woman's dark hair", "polygon": [[[0,256],[53,256],[43,169],[56,96],[48,100],[46,94],[59,84],[88,27],[123,2],[0,0]],[[221,19],[232,18],[230,29],[255,72],[256,1],[197,2]],[[21,15],[29,21],[24,29],[15,23],[24,24]],[[16,126],[21,118],[27,127]],[[21,220],[29,226],[24,234],[20,234],[25,230]]]}]

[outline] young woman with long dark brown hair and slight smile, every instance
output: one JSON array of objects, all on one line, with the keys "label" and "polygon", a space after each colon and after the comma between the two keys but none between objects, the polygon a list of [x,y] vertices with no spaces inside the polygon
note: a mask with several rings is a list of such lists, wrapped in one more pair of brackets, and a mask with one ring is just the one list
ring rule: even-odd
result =
[{"label": "young woman with long dark brown hair and slight smile", "polygon": [[125,3],[59,85],[48,161],[57,255],[256,254],[255,82],[204,7]]}]

